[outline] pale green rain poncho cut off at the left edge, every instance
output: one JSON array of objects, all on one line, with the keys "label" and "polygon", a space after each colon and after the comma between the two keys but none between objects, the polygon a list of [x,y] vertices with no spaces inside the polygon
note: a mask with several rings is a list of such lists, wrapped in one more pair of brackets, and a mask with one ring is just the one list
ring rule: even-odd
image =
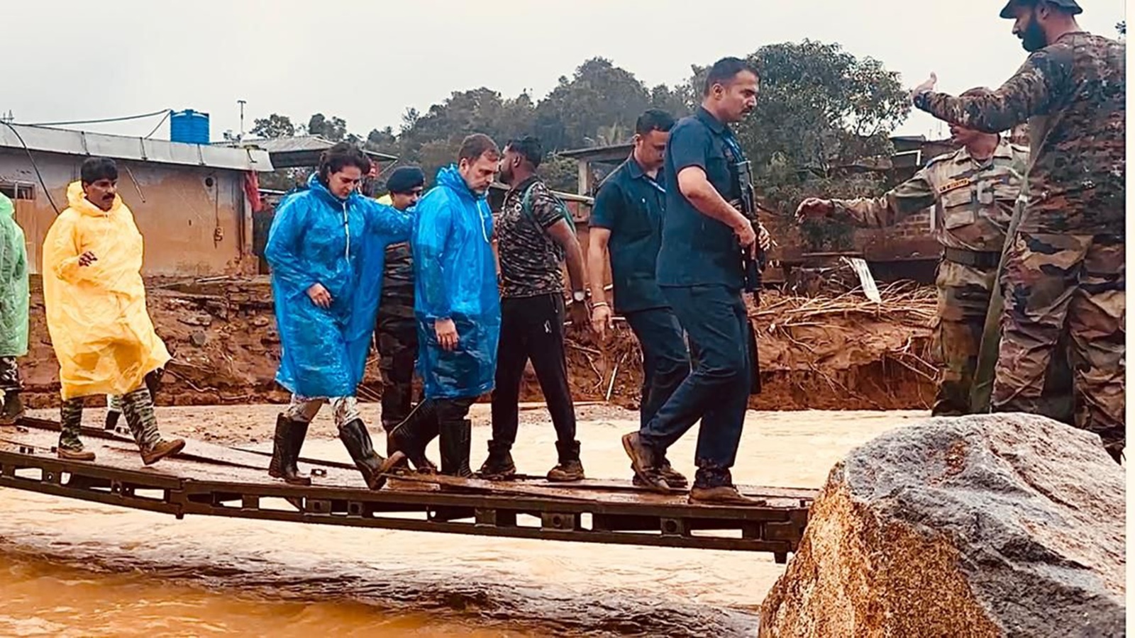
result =
[{"label": "pale green rain poncho cut off at the left edge", "polygon": [[27,354],[27,247],[15,216],[0,193],[0,356]]}]

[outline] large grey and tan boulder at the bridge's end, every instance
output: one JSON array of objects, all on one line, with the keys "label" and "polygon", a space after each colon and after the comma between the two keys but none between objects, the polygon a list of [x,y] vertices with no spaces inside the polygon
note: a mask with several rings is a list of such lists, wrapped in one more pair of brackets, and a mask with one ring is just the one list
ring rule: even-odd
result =
[{"label": "large grey and tan boulder at the bridge's end", "polygon": [[762,637],[1125,636],[1125,471],[1031,414],[928,419],[852,450],[762,606]]}]

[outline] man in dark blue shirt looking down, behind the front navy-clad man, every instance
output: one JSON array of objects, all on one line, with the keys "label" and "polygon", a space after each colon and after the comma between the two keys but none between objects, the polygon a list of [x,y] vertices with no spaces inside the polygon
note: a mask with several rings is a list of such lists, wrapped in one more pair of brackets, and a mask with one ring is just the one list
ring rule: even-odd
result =
[{"label": "man in dark blue shirt looking down, behind the front navy-clad man", "polygon": [[[639,415],[644,428],[690,373],[682,327],[655,278],[666,208],[662,162],[673,126],[674,118],[658,109],[639,116],[634,123],[634,150],[603,181],[589,223],[591,327],[602,338],[619,312],[638,338],[642,350]],[[614,310],[603,289],[608,255]],[[659,472],[672,488],[688,485],[665,455],[659,460]],[[637,475],[634,479],[641,484]]]}]

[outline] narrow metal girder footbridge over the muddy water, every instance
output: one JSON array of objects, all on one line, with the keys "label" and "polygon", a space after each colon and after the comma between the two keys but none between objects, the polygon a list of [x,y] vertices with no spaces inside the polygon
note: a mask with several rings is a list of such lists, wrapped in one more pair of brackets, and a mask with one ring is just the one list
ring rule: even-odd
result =
[{"label": "narrow metal girder footbridge over the muddy water", "polygon": [[364,528],[442,531],[771,552],[796,552],[815,490],[742,486],[756,506],[691,505],[625,480],[554,484],[537,477],[485,481],[410,475],[367,489],[353,465],[301,459],[311,486],[268,477],[269,454],[187,440],[174,457],[144,468],[125,431],[84,429],[96,461],[56,455],[59,425],[23,419],[0,427],[0,487],[173,514]]}]

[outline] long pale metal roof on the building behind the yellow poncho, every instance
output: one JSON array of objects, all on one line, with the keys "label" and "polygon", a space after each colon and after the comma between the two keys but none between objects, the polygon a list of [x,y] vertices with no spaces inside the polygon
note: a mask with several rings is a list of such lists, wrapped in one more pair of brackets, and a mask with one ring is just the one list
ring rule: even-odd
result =
[{"label": "long pale metal roof on the building behind the yellow poncho", "polygon": [[268,152],[257,149],[183,144],[166,140],[144,140],[22,124],[0,126],[0,148],[23,150],[25,144],[28,150],[45,153],[96,156],[230,170],[274,170]]}]

